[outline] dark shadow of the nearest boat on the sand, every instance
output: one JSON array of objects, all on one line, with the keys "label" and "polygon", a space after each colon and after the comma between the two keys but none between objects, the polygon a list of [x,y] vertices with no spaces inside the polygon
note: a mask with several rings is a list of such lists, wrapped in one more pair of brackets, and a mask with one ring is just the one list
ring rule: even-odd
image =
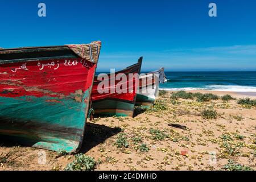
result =
[{"label": "dark shadow of the nearest boat on the sand", "polygon": [[[121,132],[121,128],[119,127],[108,127],[104,125],[97,125],[94,123],[86,123],[84,140],[82,142],[82,147],[79,152],[86,153],[91,148],[97,146],[100,143],[104,143],[104,141],[110,137]],[[31,146],[31,143],[25,144],[23,142],[17,142],[17,138],[8,137],[0,135],[0,147],[28,147]]]}]

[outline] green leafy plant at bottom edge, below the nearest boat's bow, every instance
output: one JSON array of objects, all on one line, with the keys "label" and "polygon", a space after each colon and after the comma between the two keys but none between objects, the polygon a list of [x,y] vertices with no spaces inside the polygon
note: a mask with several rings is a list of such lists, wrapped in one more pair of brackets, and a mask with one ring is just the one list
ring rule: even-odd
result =
[{"label": "green leafy plant at bottom edge, below the nearest boat's bow", "polygon": [[92,171],[96,167],[94,158],[84,155],[75,155],[75,160],[65,167],[65,171]]}]

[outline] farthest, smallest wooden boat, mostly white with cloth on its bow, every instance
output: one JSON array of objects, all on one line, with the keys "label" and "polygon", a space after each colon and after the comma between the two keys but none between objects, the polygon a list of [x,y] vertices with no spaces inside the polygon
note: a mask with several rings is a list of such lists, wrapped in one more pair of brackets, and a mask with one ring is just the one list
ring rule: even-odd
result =
[{"label": "farthest, smallest wooden boat, mostly white with cloth on its bow", "polygon": [[159,82],[164,82],[165,78],[164,68],[140,76],[135,105],[147,108],[154,104],[159,93]]}]

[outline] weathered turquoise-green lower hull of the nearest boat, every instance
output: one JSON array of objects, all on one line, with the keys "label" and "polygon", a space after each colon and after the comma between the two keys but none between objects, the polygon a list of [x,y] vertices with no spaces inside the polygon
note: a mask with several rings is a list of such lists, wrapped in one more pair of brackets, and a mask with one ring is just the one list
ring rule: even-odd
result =
[{"label": "weathered turquoise-green lower hull of the nearest boat", "polygon": [[[82,100],[89,98],[89,90]],[[52,151],[77,152],[88,104],[72,98],[0,97],[0,134]]]}]

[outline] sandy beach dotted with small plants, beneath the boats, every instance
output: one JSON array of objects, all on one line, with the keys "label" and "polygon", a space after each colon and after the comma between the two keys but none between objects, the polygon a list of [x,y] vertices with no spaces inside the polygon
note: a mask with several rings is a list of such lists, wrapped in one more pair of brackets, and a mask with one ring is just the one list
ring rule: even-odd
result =
[{"label": "sandy beach dotted with small plants, beneath the boats", "polygon": [[[191,92],[256,98],[255,93]],[[95,170],[256,169],[255,106],[240,105],[237,100],[199,102],[171,96],[171,92],[163,94],[160,104],[137,110],[134,118],[88,121],[81,153],[95,159]],[[209,108],[217,112],[215,119],[202,116]],[[46,162],[39,164],[42,152]],[[74,159],[75,155],[58,156],[0,140],[0,170],[63,170]]]}]

